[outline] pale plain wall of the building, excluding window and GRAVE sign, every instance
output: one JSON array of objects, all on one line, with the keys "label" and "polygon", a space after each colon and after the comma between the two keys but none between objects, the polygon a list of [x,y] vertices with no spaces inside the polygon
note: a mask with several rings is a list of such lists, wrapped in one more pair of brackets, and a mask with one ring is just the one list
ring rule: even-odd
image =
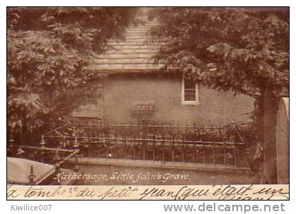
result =
[{"label": "pale plain wall of the building, excluding window and GRAVE sign", "polygon": [[[216,91],[199,85],[198,105],[181,104],[181,77],[174,75],[116,75],[103,83],[103,120],[135,123],[147,118],[154,123],[210,124],[248,122],[254,99],[233,92]],[[132,113],[135,101],[154,102],[147,116]]]}]

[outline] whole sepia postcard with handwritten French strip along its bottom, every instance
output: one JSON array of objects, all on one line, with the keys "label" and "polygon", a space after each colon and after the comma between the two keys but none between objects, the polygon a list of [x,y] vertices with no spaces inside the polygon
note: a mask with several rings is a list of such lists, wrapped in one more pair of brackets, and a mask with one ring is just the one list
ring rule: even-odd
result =
[{"label": "whole sepia postcard with handwritten French strip along its bottom", "polygon": [[7,200],[289,200],[289,7],[7,7]]}]

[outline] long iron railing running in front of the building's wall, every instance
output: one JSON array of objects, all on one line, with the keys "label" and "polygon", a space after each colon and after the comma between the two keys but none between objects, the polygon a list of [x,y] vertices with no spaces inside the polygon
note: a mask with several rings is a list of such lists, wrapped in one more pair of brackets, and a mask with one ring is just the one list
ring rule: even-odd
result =
[{"label": "long iron railing running in front of the building's wall", "polygon": [[224,164],[241,167],[249,124],[153,125],[73,121],[44,137],[51,147],[79,143],[80,157]]}]

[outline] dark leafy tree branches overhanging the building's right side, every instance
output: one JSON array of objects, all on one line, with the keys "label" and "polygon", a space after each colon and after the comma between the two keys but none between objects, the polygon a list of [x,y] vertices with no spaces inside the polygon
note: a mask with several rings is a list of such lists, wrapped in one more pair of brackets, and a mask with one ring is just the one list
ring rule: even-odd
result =
[{"label": "dark leafy tree branches overhanging the building's right side", "polygon": [[249,96],[288,89],[288,9],[161,8],[150,12],[162,45],[155,62],[218,90]]}]

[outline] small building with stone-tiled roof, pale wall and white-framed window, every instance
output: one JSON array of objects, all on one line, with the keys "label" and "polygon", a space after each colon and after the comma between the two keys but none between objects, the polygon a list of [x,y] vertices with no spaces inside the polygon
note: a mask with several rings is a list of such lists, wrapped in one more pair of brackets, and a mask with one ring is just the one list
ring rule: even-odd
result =
[{"label": "small building with stone-tiled roof, pale wall and white-framed window", "polygon": [[81,106],[75,118],[99,118],[107,123],[209,124],[248,122],[254,99],[216,91],[184,79],[181,72],[163,72],[152,57],[160,45],[149,43],[157,25],[143,9],[141,23],[126,30],[125,40],[110,42],[112,50],[93,59],[91,69],[106,72],[94,102]]}]

